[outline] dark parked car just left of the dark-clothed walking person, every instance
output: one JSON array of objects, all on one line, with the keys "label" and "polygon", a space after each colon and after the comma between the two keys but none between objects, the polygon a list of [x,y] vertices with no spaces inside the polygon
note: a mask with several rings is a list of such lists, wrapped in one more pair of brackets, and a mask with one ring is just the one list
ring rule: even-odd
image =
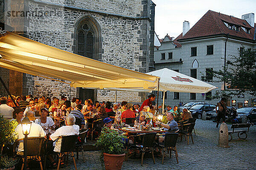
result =
[{"label": "dark parked car just left of the dark-clothed walking person", "polygon": [[208,112],[212,111],[216,105],[212,104],[198,104],[193,105],[191,108],[189,108],[189,111],[191,112],[192,116],[197,119],[202,119],[203,111]]}]

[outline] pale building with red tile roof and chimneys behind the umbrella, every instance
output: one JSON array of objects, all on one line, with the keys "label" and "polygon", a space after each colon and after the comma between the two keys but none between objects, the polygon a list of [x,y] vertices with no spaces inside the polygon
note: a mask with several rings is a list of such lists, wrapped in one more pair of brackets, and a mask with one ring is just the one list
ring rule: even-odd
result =
[{"label": "pale building with red tile roof and chimneys behind the umbrella", "polygon": [[[242,15],[241,19],[215,11],[207,11],[198,22],[189,29],[189,23],[183,22],[183,33],[173,39],[169,35],[161,41],[161,46],[154,50],[156,70],[169,68],[182,74],[201,79],[208,69],[221,70],[225,56],[239,55],[241,47],[256,48],[256,23],[254,14]],[[170,54],[172,53],[172,54]],[[172,56],[172,57],[170,57]],[[214,80],[215,78],[213,78]],[[210,83],[218,87],[207,95],[218,94],[224,83]],[[202,94],[167,92],[166,105],[184,104],[193,101],[206,101],[216,104],[218,99],[209,99]],[[161,95],[160,95],[161,96]],[[244,98],[234,97],[236,106],[256,97],[244,94]],[[231,99],[229,100],[231,102]]]}]

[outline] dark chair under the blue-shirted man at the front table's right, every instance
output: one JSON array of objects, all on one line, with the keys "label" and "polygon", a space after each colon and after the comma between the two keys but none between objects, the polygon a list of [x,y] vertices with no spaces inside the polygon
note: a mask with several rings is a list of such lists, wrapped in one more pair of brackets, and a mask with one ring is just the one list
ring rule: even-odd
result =
[{"label": "dark chair under the blue-shirted man at the front table's right", "polygon": [[166,133],[165,137],[164,137],[164,143],[158,144],[159,147],[163,148],[162,164],[163,164],[163,159],[164,159],[166,150],[170,151],[170,158],[171,158],[172,150],[173,150],[175,152],[177,164],[179,163],[178,153],[177,153],[177,148],[176,148],[176,142],[177,142],[178,136],[179,136],[179,133]]}]

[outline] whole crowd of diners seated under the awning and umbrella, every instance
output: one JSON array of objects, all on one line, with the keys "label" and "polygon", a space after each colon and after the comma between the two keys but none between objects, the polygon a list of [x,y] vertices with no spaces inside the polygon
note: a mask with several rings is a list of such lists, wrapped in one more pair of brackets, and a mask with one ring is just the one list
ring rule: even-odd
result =
[{"label": "whole crowd of diners seated under the awning and umbrella", "polygon": [[[49,140],[55,141],[54,151],[60,150],[61,141],[58,140],[59,136],[68,136],[79,134],[79,128],[88,128],[86,118],[92,117],[93,119],[104,119],[104,126],[117,130],[120,135],[128,135],[122,133],[119,129],[122,127],[129,127],[125,124],[126,118],[136,118],[134,126],[146,125],[150,123],[147,118],[152,118],[154,124],[163,127],[164,130],[169,132],[177,132],[178,125],[175,122],[174,117],[177,114],[177,106],[172,109],[169,105],[166,107],[165,115],[168,122],[163,123],[157,120],[156,109],[152,105],[156,96],[151,94],[148,96],[143,104],[131,104],[123,101],[121,104],[111,102],[99,102],[91,99],[86,99],[84,104],[81,103],[81,99],[73,98],[72,101],[67,100],[66,96],[61,96],[61,99],[57,97],[33,97],[28,96],[12,96],[15,102],[12,101],[10,96],[0,98],[0,114],[5,117],[12,117],[18,122],[16,128],[18,139],[24,138],[22,133],[20,122],[27,116],[32,122],[31,130],[28,137],[46,137],[46,129],[55,130],[54,133],[49,135]],[[16,104],[16,105],[15,105]],[[187,119],[192,117],[191,113],[186,109],[183,110],[183,118]],[[114,120],[108,117],[108,113],[114,113]],[[36,118],[37,117],[37,118]],[[58,119],[59,118],[59,119]],[[81,126],[75,125],[76,119],[81,119]],[[163,138],[159,138],[160,142],[163,142]],[[129,141],[133,142],[133,141]],[[23,141],[20,142],[17,154],[23,154]],[[56,162],[48,156],[51,162],[51,166],[55,167]],[[63,160],[61,164],[64,164]]]}]

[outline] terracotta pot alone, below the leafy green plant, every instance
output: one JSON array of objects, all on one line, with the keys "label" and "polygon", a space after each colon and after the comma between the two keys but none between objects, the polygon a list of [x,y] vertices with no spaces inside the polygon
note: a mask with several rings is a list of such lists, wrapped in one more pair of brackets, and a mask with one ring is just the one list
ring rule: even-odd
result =
[{"label": "terracotta pot alone, below the leafy green plant", "polygon": [[103,153],[103,155],[106,170],[121,170],[125,153],[121,155]]}]

